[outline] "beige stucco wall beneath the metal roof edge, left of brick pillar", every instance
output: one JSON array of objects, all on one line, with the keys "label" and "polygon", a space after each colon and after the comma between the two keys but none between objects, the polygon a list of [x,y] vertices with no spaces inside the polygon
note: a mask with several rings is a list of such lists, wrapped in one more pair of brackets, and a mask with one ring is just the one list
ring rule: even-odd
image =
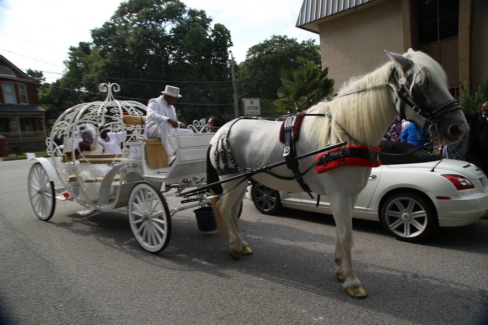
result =
[{"label": "beige stucco wall beneath the metal roof edge, left of brick pillar", "polygon": [[386,62],[383,50],[404,52],[402,2],[390,0],[319,25],[322,67],[329,67],[334,92],[353,76]]}]

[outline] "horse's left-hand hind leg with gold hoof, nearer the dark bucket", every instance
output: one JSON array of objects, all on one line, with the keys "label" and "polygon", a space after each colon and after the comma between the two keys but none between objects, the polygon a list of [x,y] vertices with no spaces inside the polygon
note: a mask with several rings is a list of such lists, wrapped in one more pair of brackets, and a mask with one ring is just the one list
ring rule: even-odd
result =
[{"label": "horse's left-hand hind leg with gold hoof, nearer the dark bucket", "polygon": [[[225,184],[226,186],[223,186],[224,193],[226,193],[229,188],[235,186],[235,183],[236,182],[229,182]],[[228,193],[222,196],[217,202],[217,208],[219,209],[229,231],[229,253],[236,259],[240,258],[243,247],[243,240],[237,223],[237,212],[239,209],[239,204],[246,193],[246,187],[247,182],[242,182],[241,184],[237,185],[236,188],[230,190]],[[235,222],[232,217],[234,210],[236,211]]]}]

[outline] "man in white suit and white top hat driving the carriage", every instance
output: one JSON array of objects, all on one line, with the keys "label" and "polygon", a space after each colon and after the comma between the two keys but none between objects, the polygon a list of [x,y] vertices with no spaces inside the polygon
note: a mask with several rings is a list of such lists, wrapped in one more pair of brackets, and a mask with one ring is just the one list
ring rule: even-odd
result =
[{"label": "man in white suit and white top hat driving the carriage", "polygon": [[168,160],[174,159],[174,148],[169,142],[168,136],[172,133],[192,133],[187,125],[178,122],[174,104],[181,98],[179,88],[166,86],[162,95],[149,100],[147,104],[146,122],[144,123],[145,138],[159,138],[163,142],[168,154]]}]

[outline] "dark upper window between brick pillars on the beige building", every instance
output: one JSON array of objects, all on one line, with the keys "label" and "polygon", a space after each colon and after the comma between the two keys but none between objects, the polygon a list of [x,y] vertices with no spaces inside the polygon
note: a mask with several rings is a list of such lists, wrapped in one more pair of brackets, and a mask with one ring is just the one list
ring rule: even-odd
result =
[{"label": "dark upper window between brick pillars on the beige building", "polygon": [[419,45],[457,36],[459,0],[420,0],[418,2]]}]

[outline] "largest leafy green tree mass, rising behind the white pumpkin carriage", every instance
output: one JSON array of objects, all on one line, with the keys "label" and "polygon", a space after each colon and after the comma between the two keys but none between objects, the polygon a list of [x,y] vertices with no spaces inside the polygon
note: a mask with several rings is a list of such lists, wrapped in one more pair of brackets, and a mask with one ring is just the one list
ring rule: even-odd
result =
[{"label": "largest leafy green tree mass, rising behind the white pumpkin carriage", "polygon": [[98,84],[116,82],[121,87],[116,98],[146,104],[170,84],[183,96],[178,104],[183,121],[222,116],[232,105],[211,104],[232,98],[227,54],[232,42],[224,25],[211,27],[211,22],[203,10],[179,0],[123,2],[109,21],[92,30],[92,42],[70,47],[65,75],[54,86],[78,91],[51,87],[43,98],[66,95],[51,102],[50,110],[60,112],[71,103],[103,100]]}]

